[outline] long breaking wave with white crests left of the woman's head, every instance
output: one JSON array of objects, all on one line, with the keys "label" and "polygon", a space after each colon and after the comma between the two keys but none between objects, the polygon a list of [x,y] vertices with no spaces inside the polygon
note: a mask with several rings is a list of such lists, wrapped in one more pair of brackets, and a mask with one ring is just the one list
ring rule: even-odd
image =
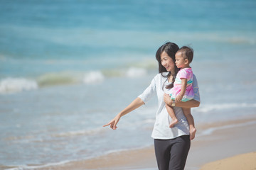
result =
[{"label": "long breaking wave with white crests left of the woman's head", "polygon": [[89,72],[53,72],[39,75],[35,79],[9,77],[0,81],[0,94],[36,90],[46,86],[101,84],[105,79],[112,77],[127,77],[129,79],[144,77],[147,72],[146,68],[128,67]]}]

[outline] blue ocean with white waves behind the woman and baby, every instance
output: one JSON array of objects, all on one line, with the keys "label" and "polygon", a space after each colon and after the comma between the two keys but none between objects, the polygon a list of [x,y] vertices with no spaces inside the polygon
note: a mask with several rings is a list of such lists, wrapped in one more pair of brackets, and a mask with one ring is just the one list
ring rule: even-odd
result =
[{"label": "blue ocean with white waves behind the woman and baby", "polygon": [[0,166],[153,145],[156,97],[118,130],[102,125],[149,86],[156,50],[169,41],[194,50],[196,125],[255,115],[255,8],[255,0],[1,0]]}]

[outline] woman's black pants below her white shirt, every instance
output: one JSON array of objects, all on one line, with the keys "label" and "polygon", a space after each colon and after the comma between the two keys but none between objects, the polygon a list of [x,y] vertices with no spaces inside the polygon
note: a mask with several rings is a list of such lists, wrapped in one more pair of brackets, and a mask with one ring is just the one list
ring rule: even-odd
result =
[{"label": "woman's black pants below her white shirt", "polygon": [[159,170],[183,170],[191,146],[189,135],[171,140],[154,140]]}]

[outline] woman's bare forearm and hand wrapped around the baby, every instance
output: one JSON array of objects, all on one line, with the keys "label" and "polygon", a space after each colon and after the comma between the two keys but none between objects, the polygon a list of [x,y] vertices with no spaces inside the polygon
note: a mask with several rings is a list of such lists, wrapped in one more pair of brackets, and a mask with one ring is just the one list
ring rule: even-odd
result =
[{"label": "woman's bare forearm and hand wrapped around the baby", "polygon": [[[164,102],[171,106],[171,104],[174,102],[171,100],[170,96],[168,94],[164,94]],[[186,102],[176,102],[175,106],[181,107],[181,108],[196,108],[200,105],[200,101],[196,101],[194,99]]]}]

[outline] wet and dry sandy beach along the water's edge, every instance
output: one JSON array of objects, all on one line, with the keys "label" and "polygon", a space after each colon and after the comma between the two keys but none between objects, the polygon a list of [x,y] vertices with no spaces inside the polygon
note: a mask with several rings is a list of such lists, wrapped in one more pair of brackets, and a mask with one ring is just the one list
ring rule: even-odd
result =
[{"label": "wet and dry sandy beach along the water's edge", "polygon": [[[256,118],[198,126],[198,136],[191,143],[186,170],[256,169],[255,129]],[[153,146],[111,153],[78,162],[41,166],[41,168],[31,166],[31,168],[53,170],[157,169]]]}]

